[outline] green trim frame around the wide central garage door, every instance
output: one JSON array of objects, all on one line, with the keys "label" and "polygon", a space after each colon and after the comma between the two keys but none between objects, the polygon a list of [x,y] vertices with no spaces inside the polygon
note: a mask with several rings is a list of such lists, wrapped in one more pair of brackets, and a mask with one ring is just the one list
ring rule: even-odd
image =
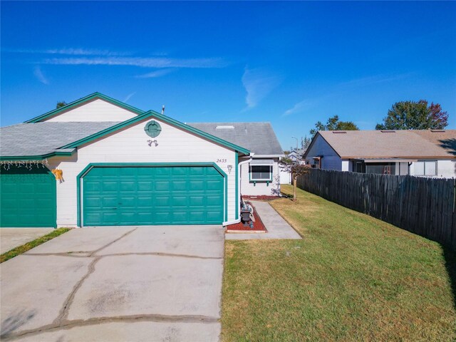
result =
[{"label": "green trim frame around the wide central garage door", "polygon": [[214,167],[217,172],[224,177],[224,222],[228,220],[228,175],[217,165],[215,162],[90,162],[84,169],[76,176],[76,207],[78,211],[77,224],[81,225],[81,179],[93,167],[173,167],[173,166],[209,166]]}]

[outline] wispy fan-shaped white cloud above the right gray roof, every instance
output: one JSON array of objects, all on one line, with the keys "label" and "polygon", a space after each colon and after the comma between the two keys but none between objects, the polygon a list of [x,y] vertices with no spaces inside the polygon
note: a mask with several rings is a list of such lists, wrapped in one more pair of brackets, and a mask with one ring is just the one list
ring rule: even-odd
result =
[{"label": "wispy fan-shaped white cloud above the right gray roof", "polygon": [[271,90],[280,83],[280,78],[261,68],[244,69],[242,84],[247,91],[245,102],[248,108],[254,108]]}]

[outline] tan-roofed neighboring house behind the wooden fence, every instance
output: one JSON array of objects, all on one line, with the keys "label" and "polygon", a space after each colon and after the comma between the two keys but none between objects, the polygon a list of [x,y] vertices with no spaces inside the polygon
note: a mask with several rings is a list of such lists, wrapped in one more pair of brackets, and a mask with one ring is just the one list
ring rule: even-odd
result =
[{"label": "tan-roofed neighboring house behind the wooden fence", "polygon": [[304,158],[324,170],[451,178],[456,130],[318,131]]}]

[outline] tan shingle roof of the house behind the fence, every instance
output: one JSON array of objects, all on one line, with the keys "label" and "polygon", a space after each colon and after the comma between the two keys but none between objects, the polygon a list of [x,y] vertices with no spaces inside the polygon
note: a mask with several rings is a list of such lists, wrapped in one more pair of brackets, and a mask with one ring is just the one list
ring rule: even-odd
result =
[{"label": "tan shingle roof of the house behind the fence", "polygon": [[[456,130],[320,130],[304,157],[317,135],[321,135],[342,159],[448,159],[454,158],[456,153]],[[448,147],[451,141],[452,148]]]}]

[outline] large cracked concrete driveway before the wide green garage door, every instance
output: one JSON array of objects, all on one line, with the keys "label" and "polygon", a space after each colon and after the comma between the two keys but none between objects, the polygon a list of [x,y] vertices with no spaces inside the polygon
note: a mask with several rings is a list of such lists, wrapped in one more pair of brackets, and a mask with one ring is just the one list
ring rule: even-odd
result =
[{"label": "large cracked concrete driveway before the wide green garage door", "polygon": [[2,341],[218,341],[221,226],[73,229],[1,264]]}]

